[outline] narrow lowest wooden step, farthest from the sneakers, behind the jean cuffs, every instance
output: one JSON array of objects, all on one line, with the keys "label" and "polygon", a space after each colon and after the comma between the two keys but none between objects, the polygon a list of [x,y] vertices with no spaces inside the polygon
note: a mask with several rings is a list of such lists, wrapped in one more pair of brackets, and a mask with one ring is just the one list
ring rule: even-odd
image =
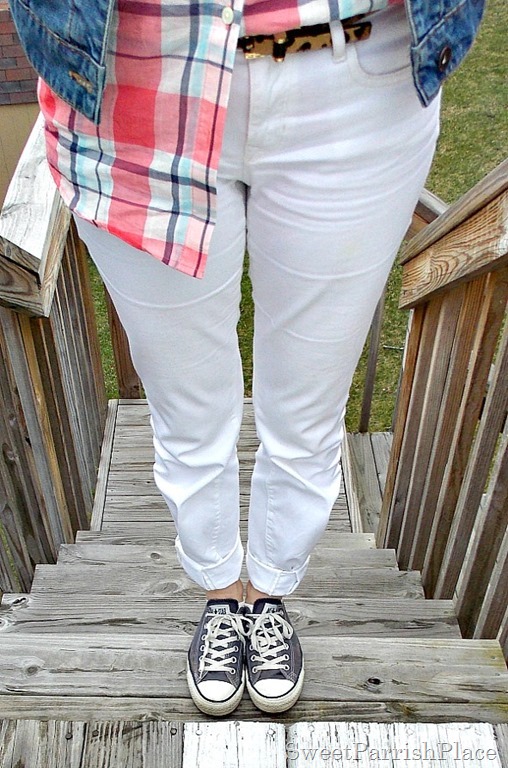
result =
[{"label": "narrow lowest wooden step, farthest from the sneakers, behind the jean cuffs", "polygon": [[[140,544],[145,547],[168,547],[174,544],[174,535],[168,535],[167,526],[163,530],[154,530],[152,526],[147,530],[146,526],[133,527],[128,524],[123,533],[110,533],[109,531],[78,531],[77,544]],[[333,549],[375,549],[376,539],[373,533],[344,533],[340,531],[326,531],[321,543]],[[320,544],[318,545],[320,546]]]}]

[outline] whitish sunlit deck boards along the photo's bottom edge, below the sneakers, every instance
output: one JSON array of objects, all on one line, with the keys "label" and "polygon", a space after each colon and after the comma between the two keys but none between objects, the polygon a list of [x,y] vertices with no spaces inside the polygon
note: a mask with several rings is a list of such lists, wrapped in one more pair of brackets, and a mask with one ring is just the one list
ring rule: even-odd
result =
[{"label": "whitish sunlit deck boards along the photo's bottom edge, below the sneakers", "polygon": [[0,728],[1,768],[77,766],[78,756],[79,765],[95,768],[501,768],[506,738],[505,726],[490,723],[14,720]]}]

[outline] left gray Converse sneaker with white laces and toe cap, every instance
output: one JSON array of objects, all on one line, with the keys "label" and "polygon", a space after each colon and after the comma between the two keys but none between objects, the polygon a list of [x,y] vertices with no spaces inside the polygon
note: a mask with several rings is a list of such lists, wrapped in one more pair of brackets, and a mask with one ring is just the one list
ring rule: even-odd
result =
[{"label": "left gray Converse sneaker with white laces and toe cap", "polygon": [[207,602],[187,656],[192,700],[207,715],[229,715],[241,701],[247,626],[237,600]]}]

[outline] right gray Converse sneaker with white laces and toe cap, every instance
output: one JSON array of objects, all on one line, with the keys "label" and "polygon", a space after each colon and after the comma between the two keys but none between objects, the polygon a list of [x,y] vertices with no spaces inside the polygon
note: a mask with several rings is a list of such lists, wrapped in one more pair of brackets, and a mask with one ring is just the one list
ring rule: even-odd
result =
[{"label": "right gray Converse sneaker with white laces and toe cap", "polygon": [[247,639],[247,690],[262,712],[285,712],[302,692],[302,648],[281,600],[261,598],[252,610]]}]

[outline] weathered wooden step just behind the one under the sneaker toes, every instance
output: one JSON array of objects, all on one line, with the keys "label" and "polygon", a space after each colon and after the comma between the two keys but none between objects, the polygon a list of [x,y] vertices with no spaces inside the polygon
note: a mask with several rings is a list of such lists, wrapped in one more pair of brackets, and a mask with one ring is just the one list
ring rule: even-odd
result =
[{"label": "weathered wooden step just behind the one under the sneaker toes", "polygon": [[[302,599],[286,605],[301,637],[460,638],[451,600]],[[183,634],[189,640],[203,600],[144,595],[4,595],[0,635],[12,633]]]}]

